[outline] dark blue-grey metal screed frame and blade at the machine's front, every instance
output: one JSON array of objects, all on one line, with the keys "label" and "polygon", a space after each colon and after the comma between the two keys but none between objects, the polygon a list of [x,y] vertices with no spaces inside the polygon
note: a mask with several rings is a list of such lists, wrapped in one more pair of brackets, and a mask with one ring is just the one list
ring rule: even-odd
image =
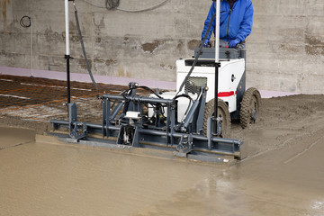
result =
[{"label": "dark blue-grey metal screed frame and blade at the machine's front", "polygon": [[[135,83],[124,94],[103,94],[103,124],[77,121],[76,103],[68,104],[68,121],[51,120],[54,130],[67,128],[68,135],[59,135],[67,142],[88,142],[92,145],[113,148],[160,148],[172,151],[175,157],[233,156],[240,158],[243,141],[212,136],[211,119],[207,136],[201,134],[202,113],[205,105],[205,89],[193,101],[184,121],[176,121],[177,102],[174,99],[144,97],[137,95]],[[114,107],[112,108],[112,104]],[[155,118],[148,119],[143,107],[155,107]],[[167,115],[162,114],[163,110]],[[148,123],[149,121],[149,123]],[[103,139],[93,139],[91,134],[100,134]],[[110,138],[110,139],[107,139]],[[113,139],[114,138],[114,139]],[[95,140],[95,141],[94,141]],[[97,144],[94,144],[97,143]]]}]

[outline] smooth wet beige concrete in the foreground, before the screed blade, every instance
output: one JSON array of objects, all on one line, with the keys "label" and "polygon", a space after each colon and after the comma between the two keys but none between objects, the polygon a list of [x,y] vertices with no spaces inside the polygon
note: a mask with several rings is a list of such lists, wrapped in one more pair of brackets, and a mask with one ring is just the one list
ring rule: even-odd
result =
[{"label": "smooth wet beige concrete in the foreground, before the screed blade", "polygon": [[324,215],[324,137],[234,166],[0,140],[0,215]]}]

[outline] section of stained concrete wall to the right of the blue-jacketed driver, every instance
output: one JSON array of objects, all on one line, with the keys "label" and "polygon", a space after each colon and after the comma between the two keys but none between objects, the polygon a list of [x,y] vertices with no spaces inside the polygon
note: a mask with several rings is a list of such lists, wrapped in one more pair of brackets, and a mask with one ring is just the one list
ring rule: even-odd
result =
[{"label": "section of stained concrete wall to the right of the blue-jacketed driver", "polygon": [[248,39],[248,85],[321,94],[324,91],[324,1],[254,1]]}]

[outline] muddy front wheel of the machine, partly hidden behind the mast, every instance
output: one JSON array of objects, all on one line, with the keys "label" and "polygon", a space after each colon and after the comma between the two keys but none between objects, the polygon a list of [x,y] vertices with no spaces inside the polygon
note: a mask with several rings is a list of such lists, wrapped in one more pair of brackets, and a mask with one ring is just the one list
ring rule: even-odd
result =
[{"label": "muddy front wheel of the machine, partly hidden behind the mast", "polygon": [[[207,135],[207,121],[208,118],[213,116],[214,113],[214,99],[211,99],[205,106],[205,111],[203,114],[203,124],[202,124],[202,132],[203,135]],[[222,101],[218,100],[217,106],[217,114],[218,117],[221,117],[221,132],[220,137],[226,138],[229,137],[230,132],[230,114],[229,114],[229,107],[228,105]]]}]

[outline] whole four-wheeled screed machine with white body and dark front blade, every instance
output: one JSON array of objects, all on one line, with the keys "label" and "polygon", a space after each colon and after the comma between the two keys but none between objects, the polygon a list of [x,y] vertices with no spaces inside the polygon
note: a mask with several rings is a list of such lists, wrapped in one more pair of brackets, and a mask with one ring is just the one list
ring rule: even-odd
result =
[{"label": "whole four-wheeled screed machine with white body and dark front blade", "polygon": [[[219,17],[220,0],[216,5],[214,17]],[[176,92],[130,83],[121,94],[102,94],[102,124],[77,121],[76,103],[68,103],[68,121],[51,120],[54,130],[69,130],[59,139],[129,150],[155,148],[211,161],[240,158],[243,141],[229,139],[230,121],[239,120],[243,128],[256,122],[260,94],[256,88],[246,91],[245,49],[220,49],[219,28],[215,35],[215,48],[200,44],[194,58],[176,61]],[[139,88],[149,95],[137,94]]]}]

